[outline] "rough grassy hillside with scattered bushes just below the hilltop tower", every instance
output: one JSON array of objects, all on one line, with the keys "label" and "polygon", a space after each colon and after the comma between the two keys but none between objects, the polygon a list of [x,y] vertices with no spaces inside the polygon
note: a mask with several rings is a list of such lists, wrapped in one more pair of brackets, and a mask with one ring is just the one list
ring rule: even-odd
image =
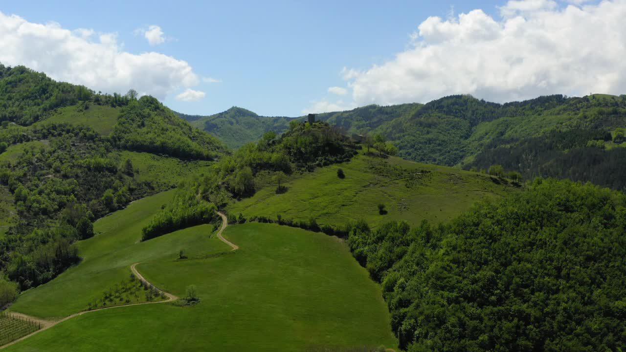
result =
[{"label": "rough grassy hillside with scattered bushes just below the hilltop tower", "polygon": [[[339,179],[337,169],[346,177]],[[288,190],[276,194],[275,185],[260,189],[253,197],[230,204],[230,214],[246,217],[308,220],[342,225],[364,219],[372,227],[389,220],[423,219],[446,222],[483,197],[498,197],[516,187],[495,184],[488,175],[450,167],[382,159],[359,154],[350,162],[317,168],[316,172],[292,177]],[[381,215],[377,205],[386,205]]]}]

